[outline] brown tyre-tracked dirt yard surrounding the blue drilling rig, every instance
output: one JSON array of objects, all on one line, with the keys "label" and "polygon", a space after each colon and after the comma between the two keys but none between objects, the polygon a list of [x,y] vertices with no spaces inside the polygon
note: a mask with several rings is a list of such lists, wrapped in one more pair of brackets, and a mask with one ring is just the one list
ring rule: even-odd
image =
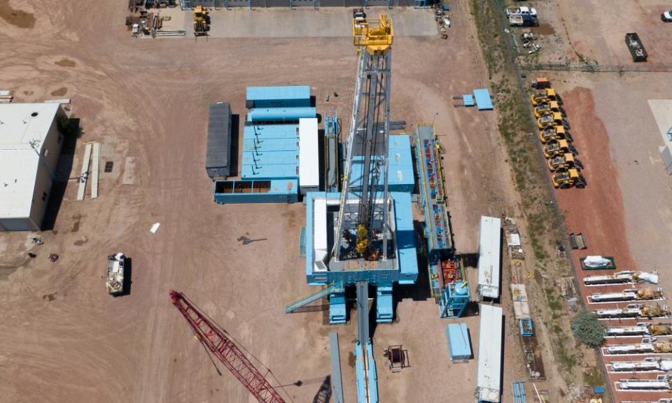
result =
[{"label": "brown tyre-tracked dirt yard surrounding the blue drilling rig", "polygon": [[[355,325],[323,325],[322,313],[285,315],[283,305],[311,290],[297,255],[301,204],[214,204],[203,161],[207,106],[228,101],[244,115],[248,85],[307,84],[319,111],[349,122],[356,55],[351,38],[134,40],[125,4],[94,7],[55,0],[0,2],[34,16],[0,26],[0,86],[17,101],[71,97],[85,141],[102,142],[99,199],[74,201],[71,180],[44,244],[31,234],[0,236],[0,402],[251,402],[223,369],[218,376],[169,304],[181,290],[260,359],[294,402],[311,402],[330,373],[328,332],[341,334],[346,400],[354,399],[349,359]],[[95,12],[92,12],[95,10]],[[349,13],[349,10],[343,10]],[[477,250],[479,215],[515,204],[491,112],[453,108],[451,96],[486,85],[465,3],[451,37],[398,38],[393,57],[393,120],[429,122],[447,150],[445,166],[458,250]],[[22,14],[21,14],[22,15]],[[457,74],[456,71],[459,73]],[[328,94],[339,92],[339,97]],[[149,232],[155,222],[161,226]],[[267,241],[242,246],[237,238]],[[37,257],[29,259],[32,250]],[[105,257],[132,257],[130,295],[104,290]],[[59,260],[49,262],[49,253]],[[473,271],[470,276],[474,276]],[[399,322],[374,339],[384,402],[472,400],[475,362],[451,365],[434,302],[406,297]],[[466,318],[477,348],[477,318]],[[519,348],[505,340],[504,399],[525,379]],[[391,375],[382,348],[403,344],[412,367]],[[300,386],[295,383],[301,381]]]}]

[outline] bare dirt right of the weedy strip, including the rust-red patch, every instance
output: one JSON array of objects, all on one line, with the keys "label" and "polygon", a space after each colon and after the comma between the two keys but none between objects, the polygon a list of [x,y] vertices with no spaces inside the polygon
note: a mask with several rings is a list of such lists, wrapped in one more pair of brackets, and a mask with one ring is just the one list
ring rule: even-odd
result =
[{"label": "bare dirt right of the weedy strip, including the rust-red patch", "polygon": [[[598,64],[632,64],[622,36],[637,31],[650,54],[650,62],[638,64],[643,69],[667,69],[672,27],[659,20],[661,2],[614,2],[593,24],[581,24],[580,14],[587,11],[571,7],[572,1],[556,2],[559,20],[566,24],[577,53]],[[599,2],[583,2],[586,10]],[[601,8],[603,9],[603,8]],[[622,23],[610,24],[608,15],[619,10]],[[627,12],[623,12],[627,10]],[[558,20],[556,20],[557,22]],[[599,31],[602,34],[597,34]],[[622,31],[622,32],[621,32]],[[623,52],[624,51],[624,52]],[[672,242],[672,197],[669,176],[659,156],[663,145],[659,128],[650,111],[648,99],[672,98],[670,73],[568,73],[545,72],[560,91],[571,125],[571,133],[588,186],[584,190],[557,192],[561,211],[570,232],[582,232],[588,249],[575,251],[579,257],[613,255],[618,269],[658,271],[664,292],[672,290],[669,268],[669,244]],[[608,271],[590,272],[606,274]],[[579,281],[587,272],[577,270]],[[582,288],[583,295],[613,292],[623,287]],[[668,302],[661,302],[668,304]],[[623,304],[618,304],[623,306]],[[606,309],[616,304],[600,305]],[[589,309],[598,309],[589,305]],[[605,325],[628,325],[638,320],[609,320]],[[659,320],[668,322],[669,320]],[[656,322],[654,320],[654,322]],[[636,343],[636,338],[609,339],[608,344]],[[639,360],[644,356],[635,358]],[[605,363],[624,357],[603,357]],[[629,359],[633,359],[629,357]],[[610,374],[610,387],[617,379],[654,378],[655,374]],[[669,393],[617,393],[616,401],[657,401]]]}]

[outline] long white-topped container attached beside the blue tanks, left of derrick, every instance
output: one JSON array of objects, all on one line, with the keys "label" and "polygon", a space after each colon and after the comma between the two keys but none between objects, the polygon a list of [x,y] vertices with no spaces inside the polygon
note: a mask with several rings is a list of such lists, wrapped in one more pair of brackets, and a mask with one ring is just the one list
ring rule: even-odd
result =
[{"label": "long white-topped container attached beside the blue tanks, left of derrick", "polygon": [[299,120],[299,185],[320,185],[320,157],[317,118]]}]

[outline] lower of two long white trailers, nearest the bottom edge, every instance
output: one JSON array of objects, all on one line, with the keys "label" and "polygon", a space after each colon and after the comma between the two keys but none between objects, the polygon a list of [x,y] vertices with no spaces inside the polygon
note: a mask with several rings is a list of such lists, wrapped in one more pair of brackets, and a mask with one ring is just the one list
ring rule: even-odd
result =
[{"label": "lower of two long white trailers, nearest the bottom edge", "polygon": [[479,402],[500,402],[502,365],[502,309],[480,304],[478,337],[478,376],[476,393]]}]

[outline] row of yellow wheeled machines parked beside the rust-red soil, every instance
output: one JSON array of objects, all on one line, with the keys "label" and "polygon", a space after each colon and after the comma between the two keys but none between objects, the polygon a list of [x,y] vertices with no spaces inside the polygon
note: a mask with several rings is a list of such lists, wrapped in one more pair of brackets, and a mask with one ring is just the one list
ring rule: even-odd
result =
[{"label": "row of yellow wheeled machines parked beside the rust-red soil", "polygon": [[544,155],[556,189],[585,188],[586,180],[581,174],[583,165],[576,158],[578,151],[569,134],[569,122],[561,107],[562,99],[548,85],[539,88],[530,96],[537,118],[539,140],[544,145]]}]

